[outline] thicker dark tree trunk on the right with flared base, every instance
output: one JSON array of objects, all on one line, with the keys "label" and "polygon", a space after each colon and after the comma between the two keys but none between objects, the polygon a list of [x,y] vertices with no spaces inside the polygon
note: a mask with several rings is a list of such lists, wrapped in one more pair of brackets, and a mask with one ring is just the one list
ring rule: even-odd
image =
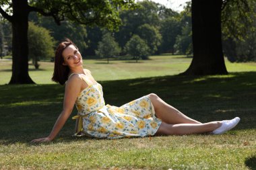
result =
[{"label": "thicker dark tree trunk on the right with flared base", "polygon": [[193,60],[182,75],[227,74],[222,52],[222,0],[192,0]]}]

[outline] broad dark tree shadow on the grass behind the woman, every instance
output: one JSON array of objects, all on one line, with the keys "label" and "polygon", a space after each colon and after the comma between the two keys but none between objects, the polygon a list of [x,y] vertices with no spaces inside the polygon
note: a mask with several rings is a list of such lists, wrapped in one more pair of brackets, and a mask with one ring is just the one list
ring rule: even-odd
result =
[{"label": "broad dark tree shadow on the grass behind the woman", "polygon": [[[149,93],[200,122],[241,117],[236,130],[253,129],[256,121],[256,72],[224,76],[165,76],[102,81],[105,103],[123,105]],[[46,136],[63,107],[61,85],[0,85],[0,143],[29,142]],[[132,95],[131,95],[132,94]],[[73,110],[71,116],[75,116]],[[58,138],[71,139],[69,118]],[[76,139],[74,139],[76,140]]]}]

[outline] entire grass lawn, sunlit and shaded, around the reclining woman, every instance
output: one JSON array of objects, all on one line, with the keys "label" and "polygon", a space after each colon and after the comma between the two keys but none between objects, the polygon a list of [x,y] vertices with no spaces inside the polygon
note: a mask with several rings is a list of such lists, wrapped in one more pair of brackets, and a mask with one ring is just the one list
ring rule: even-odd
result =
[{"label": "entire grass lawn, sunlit and shaded, around the reclining woman", "polygon": [[100,140],[71,137],[74,121],[69,118],[53,142],[30,144],[51,132],[64,88],[50,81],[53,64],[48,62],[41,62],[40,71],[30,70],[38,85],[3,85],[10,79],[10,62],[0,60],[0,169],[255,169],[256,63],[226,62],[229,75],[183,77],[176,74],[187,69],[191,58],[151,59],[109,65],[85,60],[84,65],[100,81],[111,105],[157,93],[201,122],[234,116],[241,122],[222,135]]}]

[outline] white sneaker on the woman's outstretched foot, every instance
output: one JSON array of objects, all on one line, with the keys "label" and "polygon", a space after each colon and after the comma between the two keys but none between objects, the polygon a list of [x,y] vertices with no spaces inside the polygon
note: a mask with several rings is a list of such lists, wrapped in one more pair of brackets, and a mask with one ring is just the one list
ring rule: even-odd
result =
[{"label": "white sneaker on the woman's outstretched foot", "polygon": [[212,131],[213,134],[223,134],[224,132],[234,128],[236,124],[240,121],[240,118],[236,117],[232,120],[222,120],[222,126],[220,128],[216,128],[216,130]]}]

